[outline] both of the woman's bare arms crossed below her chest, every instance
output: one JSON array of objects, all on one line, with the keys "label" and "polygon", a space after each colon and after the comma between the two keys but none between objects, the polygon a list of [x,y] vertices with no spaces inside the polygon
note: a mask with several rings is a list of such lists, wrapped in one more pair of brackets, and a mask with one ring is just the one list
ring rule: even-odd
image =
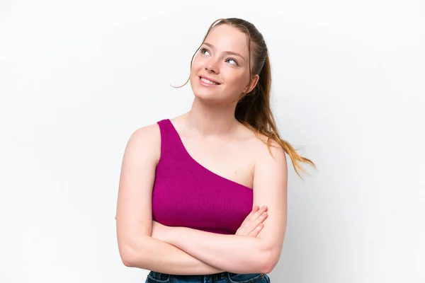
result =
[{"label": "both of the woman's bare arms crossed below her chest", "polygon": [[254,171],[254,205],[268,217],[256,235],[222,235],[152,221],[152,187],[159,156],[155,125],[137,129],[125,148],[117,202],[118,249],[129,267],[174,275],[222,271],[269,273],[283,246],[287,221],[287,164],[283,149],[265,147]]}]

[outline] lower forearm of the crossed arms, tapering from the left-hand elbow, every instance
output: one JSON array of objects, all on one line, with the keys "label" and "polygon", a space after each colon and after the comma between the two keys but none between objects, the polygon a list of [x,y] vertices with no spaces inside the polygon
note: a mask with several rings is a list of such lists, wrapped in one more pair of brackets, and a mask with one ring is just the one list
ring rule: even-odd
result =
[{"label": "lower forearm of the crossed arms, tapering from the left-hand elbow", "polygon": [[141,241],[145,243],[131,251],[127,266],[173,275],[208,275],[224,271],[156,238],[144,236]]}]

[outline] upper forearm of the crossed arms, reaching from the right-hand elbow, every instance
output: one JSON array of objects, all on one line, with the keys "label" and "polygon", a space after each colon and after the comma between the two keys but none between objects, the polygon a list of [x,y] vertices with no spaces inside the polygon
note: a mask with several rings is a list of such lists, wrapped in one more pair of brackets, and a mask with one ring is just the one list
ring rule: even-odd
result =
[{"label": "upper forearm of the crossed arms, reaching from the right-hand elbow", "polygon": [[270,253],[261,238],[222,235],[186,227],[172,227],[166,243],[221,270],[234,273],[267,273]]}]

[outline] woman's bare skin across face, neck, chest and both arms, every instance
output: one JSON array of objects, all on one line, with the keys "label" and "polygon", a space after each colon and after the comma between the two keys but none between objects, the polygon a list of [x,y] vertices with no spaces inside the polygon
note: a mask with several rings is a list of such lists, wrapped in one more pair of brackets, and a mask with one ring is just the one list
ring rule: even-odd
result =
[{"label": "woman's bare skin across face, neck, chest and both arms", "polygon": [[[249,78],[246,35],[219,25],[205,42],[208,45],[200,48],[191,69],[192,108],[171,122],[198,163],[252,188],[253,212],[235,235],[152,221],[152,187],[161,141],[158,125],[148,125],[132,134],[123,157],[116,215],[120,256],[126,266],[175,275],[268,273],[280,258],[286,229],[285,152],[272,142],[271,156],[266,144],[234,118],[239,96],[251,91],[259,79],[255,74]],[[199,76],[220,85],[203,86]],[[255,209],[263,204],[267,214],[261,219],[263,211]],[[260,223],[263,226],[256,228]]]}]

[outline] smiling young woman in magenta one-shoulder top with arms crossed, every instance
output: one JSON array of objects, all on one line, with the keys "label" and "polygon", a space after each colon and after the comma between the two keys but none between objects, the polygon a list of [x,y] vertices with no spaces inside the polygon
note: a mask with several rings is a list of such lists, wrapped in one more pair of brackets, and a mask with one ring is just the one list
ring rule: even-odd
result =
[{"label": "smiling young woman in magenta one-shoulder top with arms crossed", "polygon": [[146,282],[270,282],[286,229],[285,154],[298,175],[314,163],[280,139],[263,36],[242,19],[215,21],[189,80],[191,110],[135,130],[125,148],[121,259],[151,270]]}]

